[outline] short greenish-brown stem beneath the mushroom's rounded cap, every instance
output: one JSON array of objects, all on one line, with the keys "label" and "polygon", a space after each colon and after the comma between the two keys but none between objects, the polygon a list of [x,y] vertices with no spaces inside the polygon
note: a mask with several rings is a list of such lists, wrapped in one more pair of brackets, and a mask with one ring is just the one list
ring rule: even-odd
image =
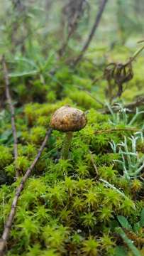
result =
[{"label": "short greenish-brown stem beneath the mushroom's rounded cap", "polygon": [[72,142],[72,132],[66,132],[64,143],[62,146],[62,159],[68,159],[71,142]]}]

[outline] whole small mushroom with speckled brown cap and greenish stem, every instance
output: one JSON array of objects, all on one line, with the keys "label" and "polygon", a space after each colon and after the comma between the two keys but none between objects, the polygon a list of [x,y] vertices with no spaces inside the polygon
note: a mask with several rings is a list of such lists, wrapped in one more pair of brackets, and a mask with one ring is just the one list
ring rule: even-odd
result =
[{"label": "whole small mushroom with speckled brown cap and greenish stem", "polygon": [[67,159],[72,142],[73,132],[84,128],[87,124],[87,117],[82,110],[65,105],[52,114],[50,127],[60,132],[66,132],[62,147],[62,159]]}]

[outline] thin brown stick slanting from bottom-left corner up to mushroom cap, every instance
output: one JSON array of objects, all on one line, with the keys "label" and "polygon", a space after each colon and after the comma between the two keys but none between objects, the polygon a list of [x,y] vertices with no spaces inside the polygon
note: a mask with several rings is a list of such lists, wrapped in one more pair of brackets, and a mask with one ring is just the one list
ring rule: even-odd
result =
[{"label": "thin brown stick slanting from bottom-left corner up to mushroom cap", "polygon": [[33,168],[35,167],[35,164],[37,163],[38,159],[40,158],[40,155],[42,154],[42,151],[43,151],[43,149],[44,149],[44,147],[45,147],[45,145],[48,141],[48,138],[50,137],[51,132],[52,132],[52,129],[48,129],[48,132],[45,136],[45,139],[44,139],[43,143],[40,146],[40,149],[38,151],[37,156],[33,160],[33,163],[31,164],[31,166],[26,171],[26,174],[21,179],[20,185],[16,189],[16,193],[15,193],[15,196],[13,198],[13,202],[11,204],[11,211],[9,213],[9,216],[8,216],[7,220],[6,220],[6,225],[4,227],[4,232],[3,232],[2,236],[1,236],[1,240],[0,240],[0,256],[4,256],[4,250],[5,250],[5,247],[6,247],[7,240],[9,239],[9,233],[11,231],[11,225],[13,223],[13,218],[14,218],[15,213],[16,213],[16,206],[17,206],[17,203],[18,203],[18,198],[21,195],[21,191],[23,190],[23,187],[24,187],[28,177],[31,175],[31,172],[33,171]]}]

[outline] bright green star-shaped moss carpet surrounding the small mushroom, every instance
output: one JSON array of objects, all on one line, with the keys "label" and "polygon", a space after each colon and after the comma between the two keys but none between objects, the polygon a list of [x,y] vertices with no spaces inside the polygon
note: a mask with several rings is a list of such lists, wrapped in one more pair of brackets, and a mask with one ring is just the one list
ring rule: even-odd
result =
[{"label": "bright green star-shaped moss carpet surrounding the small mushroom", "polygon": [[[93,53],[89,53],[89,58],[93,58]],[[101,56],[101,65],[103,61]],[[121,160],[119,149],[123,137],[130,138],[133,132],[121,130],[129,127],[124,122],[123,114],[120,120],[114,120],[116,114],[114,117],[111,114],[102,114],[103,111],[99,110],[101,105],[87,94],[86,90],[89,90],[93,97],[100,95],[99,100],[104,103],[106,81],[100,80],[99,88],[92,85],[92,80],[96,75],[101,75],[101,70],[97,68],[97,73],[95,70],[90,73],[90,70],[92,63],[84,61],[77,73],[62,67],[55,72],[53,80],[45,77],[43,85],[39,78],[28,80],[28,85],[25,80],[18,84],[17,95],[21,99],[18,104],[24,104],[23,107],[16,107],[16,162],[13,161],[11,116],[8,112],[4,117],[0,115],[0,132],[3,134],[0,137],[1,233],[11,208],[14,191],[21,182],[19,178],[13,183],[16,169],[22,175],[26,173],[45,138],[52,113],[62,105],[69,104],[84,110],[88,119],[84,129],[74,132],[68,160],[60,159],[65,134],[52,131],[19,198],[8,242],[9,256],[65,256],[69,252],[71,255],[112,256],[119,250],[116,249],[117,246],[126,247],[116,235],[115,228],[119,225],[116,216],[123,215],[130,223],[136,223],[140,219],[144,207],[143,181],[140,176],[127,180],[123,176],[123,166],[118,162]],[[138,78],[139,74],[134,82],[128,84],[133,87],[133,92],[130,87],[123,92],[126,100],[138,94],[136,81],[139,81],[140,90],[143,90],[143,79]],[[32,90],[27,96],[30,82]],[[79,90],[78,87],[83,87],[84,90]],[[38,100],[39,94],[41,96]],[[27,103],[28,99],[31,103]],[[133,116],[133,112],[128,113],[128,120]],[[143,114],[135,120],[131,128],[140,127],[141,124]],[[113,132],[116,128],[119,131]],[[110,142],[117,145],[116,151],[112,149]],[[127,146],[131,153],[130,139]],[[143,139],[141,142],[138,139],[136,149],[138,156],[143,156]],[[134,162],[133,157],[135,156],[131,159]],[[126,156],[125,159],[127,166]]]}]

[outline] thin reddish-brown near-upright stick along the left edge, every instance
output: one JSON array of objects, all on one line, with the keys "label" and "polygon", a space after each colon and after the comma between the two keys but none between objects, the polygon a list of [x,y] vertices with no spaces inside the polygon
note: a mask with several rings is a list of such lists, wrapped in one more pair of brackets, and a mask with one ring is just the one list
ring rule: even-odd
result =
[{"label": "thin reddish-brown near-upright stick along the left edge", "polygon": [[[16,124],[15,124],[15,117],[14,117],[14,107],[13,103],[11,100],[11,94],[9,90],[9,75],[8,75],[8,69],[6,67],[6,60],[3,56],[2,58],[2,68],[3,68],[3,73],[4,73],[4,81],[5,81],[5,88],[6,88],[6,100],[9,104],[9,110],[11,112],[11,127],[12,127],[12,132],[13,132],[13,154],[14,154],[14,161],[16,164],[16,159],[18,158],[18,139],[17,139],[17,134],[16,134]],[[16,178],[18,178],[19,173],[18,170],[16,170]]]}]

